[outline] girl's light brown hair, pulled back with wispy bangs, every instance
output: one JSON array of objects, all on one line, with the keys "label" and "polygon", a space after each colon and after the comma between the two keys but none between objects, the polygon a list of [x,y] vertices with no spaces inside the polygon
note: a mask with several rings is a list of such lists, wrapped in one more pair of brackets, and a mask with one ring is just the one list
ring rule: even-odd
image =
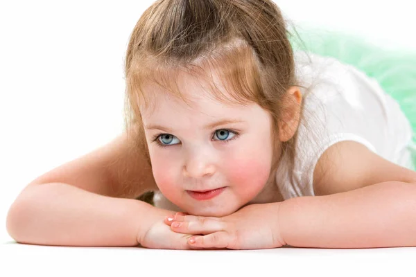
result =
[{"label": "girl's light brown hair, pulled back with wispy bangs", "polygon": [[[144,84],[158,84],[186,101],[175,89],[177,74],[186,71],[207,79],[209,69],[219,69],[231,99],[209,82],[213,96],[225,102],[255,102],[269,111],[278,141],[286,92],[291,86],[302,87],[296,79],[291,34],[286,27],[281,11],[270,0],[153,3],[132,31],[125,57],[125,131],[132,151],[144,151],[150,164],[139,111],[151,97]],[[297,132],[279,143],[281,155],[290,161],[289,172],[293,171],[296,141]]]}]

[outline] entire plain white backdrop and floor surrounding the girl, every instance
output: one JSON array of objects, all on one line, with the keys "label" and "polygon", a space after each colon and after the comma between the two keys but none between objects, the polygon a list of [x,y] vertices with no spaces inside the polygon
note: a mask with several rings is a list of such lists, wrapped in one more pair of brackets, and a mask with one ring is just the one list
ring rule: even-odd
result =
[{"label": "entire plain white backdrop and floor surrounding the girl", "polygon": [[[121,132],[125,49],[132,28],[152,2],[0,2],[0,276],[153,274],[171,272],[169,266],[175,268],[169,275],[211,274],[209,269],[252,273],[272,267],[270,274],[375,271],[414,276],[410,265],[415,248],[163,251],[11,243],[6,214],[21,189]],[[416,48],[412,1],[277,3],[297,24],[352,30],[384,46]],[[150,271],[150,265],[157,267]]]}]

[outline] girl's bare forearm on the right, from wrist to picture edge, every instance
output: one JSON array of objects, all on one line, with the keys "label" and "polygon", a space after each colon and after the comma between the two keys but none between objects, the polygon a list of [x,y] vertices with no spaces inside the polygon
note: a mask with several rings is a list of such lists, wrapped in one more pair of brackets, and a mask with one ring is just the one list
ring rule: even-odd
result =
[{"label": "girl's bare forearm on the right, from wrist to picture edge", "polygon": [[286,244],[314,248],[416,246],[416,185],[392,181],[281,202]]}]

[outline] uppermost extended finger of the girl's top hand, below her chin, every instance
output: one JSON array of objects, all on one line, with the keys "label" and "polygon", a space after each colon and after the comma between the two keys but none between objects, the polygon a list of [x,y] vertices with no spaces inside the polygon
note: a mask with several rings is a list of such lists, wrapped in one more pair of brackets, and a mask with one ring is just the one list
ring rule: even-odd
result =
[{"label": "uppermost extended finger of the girl's top hand, below her chin", "polygon": [[207,235],[209,233],[227,230],[227,223],[220,220],[201,217],[200,220],[193,220],[190,222],[173,221],[173,223],[171,223],[171,230],[176,233]]}]

